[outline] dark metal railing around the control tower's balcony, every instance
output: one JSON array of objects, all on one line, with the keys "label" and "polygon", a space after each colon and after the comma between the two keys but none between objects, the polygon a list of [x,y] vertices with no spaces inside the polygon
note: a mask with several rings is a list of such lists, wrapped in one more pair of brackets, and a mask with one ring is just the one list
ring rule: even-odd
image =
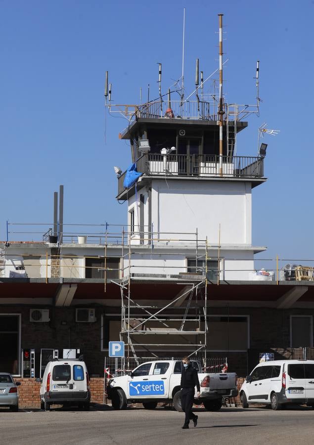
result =
[{"label": "dark metal railing around the control tower's balcony", "polygon": [[[223,177],[263,178],[264,158],[256,156],[223,156]],[[219,155],[161,155],[148,153],[136,161],[137,171],[145,175],[219,177]],[[125,173],[118,179],[118,194],[125,189]]]}]

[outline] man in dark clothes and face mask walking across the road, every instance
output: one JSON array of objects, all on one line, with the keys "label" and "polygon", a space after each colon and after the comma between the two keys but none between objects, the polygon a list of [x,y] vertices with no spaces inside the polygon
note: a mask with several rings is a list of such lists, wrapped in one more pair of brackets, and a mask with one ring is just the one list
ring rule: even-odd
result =
[{"label": "man in dark clothes and face mask walking across the road", "polygon": [[200,397],[200,386],[196,369],[190,363],[188,356],[182,358],[182,372],[181,372],[181,406],[185,412],[185,421],[182,429],[189,428],[190,420],[193,420],[194,427],[197,425],[198,416],[192,412],[193,399],[195,393],[195,385],[197,388],[197,398]]}]

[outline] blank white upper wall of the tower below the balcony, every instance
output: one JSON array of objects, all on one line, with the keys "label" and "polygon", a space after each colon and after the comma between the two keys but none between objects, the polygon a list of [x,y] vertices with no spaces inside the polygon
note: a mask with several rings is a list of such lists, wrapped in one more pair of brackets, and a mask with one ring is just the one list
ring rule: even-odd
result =
[{"label": "blank white upper wall of the tower below the balcony", "polygon": [[195,232],[197,228],[199,239],[207,236],[209,243],[217,244],[220,224],[221,244],[251,245],[251,212],[248,182],[152,181],[154,232]]}]

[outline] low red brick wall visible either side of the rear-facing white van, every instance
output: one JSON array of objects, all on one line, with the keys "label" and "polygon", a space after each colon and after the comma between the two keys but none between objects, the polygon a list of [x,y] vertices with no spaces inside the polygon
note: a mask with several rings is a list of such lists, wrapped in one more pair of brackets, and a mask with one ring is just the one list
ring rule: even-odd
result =
[{"label": "low red brick wall visible either side of the rear-facing white van", "polygon": [[[15,378],[15,381],[21,382],[21,386],[18,387],[20,408],[39,408],[41,406],[39,396],[41,384],[37,383],[35,379],[21,379],[18,377]],[[103,402],[103,378],[90,379],[90,392],[91,402]]]}]

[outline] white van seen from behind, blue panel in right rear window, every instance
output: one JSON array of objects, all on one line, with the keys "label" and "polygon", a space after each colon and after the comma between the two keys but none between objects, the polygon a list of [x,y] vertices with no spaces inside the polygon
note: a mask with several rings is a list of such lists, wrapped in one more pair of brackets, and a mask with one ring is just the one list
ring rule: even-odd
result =
[{"label": "white van seen from behind, blue panel in right rear window", "polygon": [[[80,357],[81,358],[81,357]],[[82,359],[54,359],[47,363],[40,389],[41,408],[52,404],[90,407],[90,379]]]}]

